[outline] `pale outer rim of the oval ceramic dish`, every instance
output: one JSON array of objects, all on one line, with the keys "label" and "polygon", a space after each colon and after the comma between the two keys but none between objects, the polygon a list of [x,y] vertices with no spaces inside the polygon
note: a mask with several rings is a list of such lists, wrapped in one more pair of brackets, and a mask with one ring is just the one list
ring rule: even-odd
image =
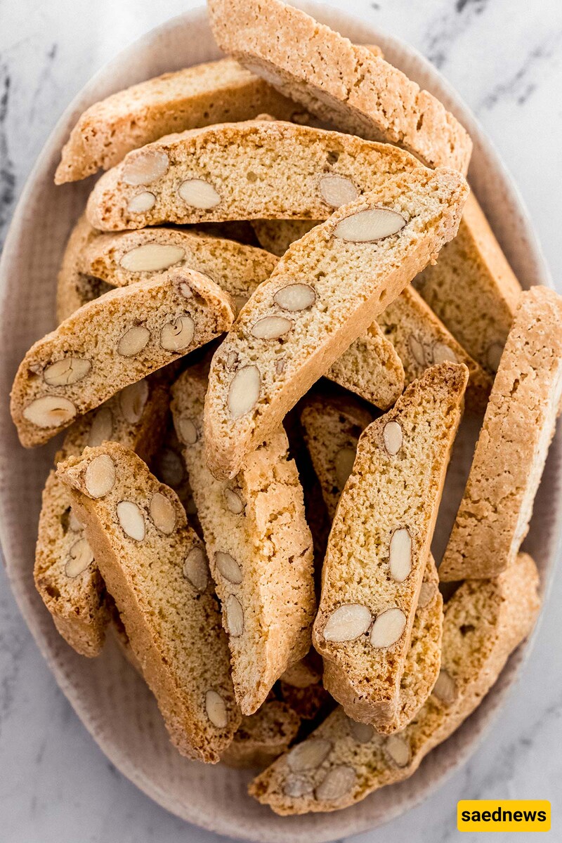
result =
[{"label": "pale outer rim of the oval ceramic dish", "polygon": [[[361,22],[353,14],[344,13],[338,8],[327,8],[325,4],[316,3],[314,0],[292,0],[292,4],[298,8],[302,8],[308,13],[312,13],[319,21],[322,21],[326,16],[329,16],[329,25],[338,30],[345,31],[346,27],[351,25],[361,25]],[[89,104],[98,99],[97,95],[93,96],[92,94],[94,90],[98,88],[99,83],[110,82],[114,69],[122,67],[123,64],[130,60],[131,57],[139,50],[147,50],[153,44],[155,39],[165,35],[168,31],[175,30],[179,25],[187,23],[201,23],[203,20],[206,20],[206,8],[198,7],[175,16],[152,30],[149,30],[140,38],[133,41],[131,45],[126,46],[126,48],[117,53],[117,55],[110,59],[109,62],[106,62],[103,67],[100,67],[99,70],[88,80],[88,83],[86,83],[83,88],[78,91],[78,94],[76,94],[71,103],[62,112],[62,115],[56,121],[56,126],[47,137],[39,156],[36,158],[34,166],[29,172],[29,176],[25,181],[24,188],[21,191],[19,201],[17,202],[13,212],[12,221],[8,228],[8,233],[3,246],[3,254],[0,257],[1,312],[3,312],[5,308],[5,299],[8,292],[8,267],[22,235],[25,220],[25,208],[28,204],[29,196],[31,191],[34,189],[35,182],[38,179],[45,177],[45,173],[50,172],[49,167],[53,157],[53,152],[55,150],[56,152],[60,152],[63,143],[67,140],[69,129],[76,121],[78,115],[86,107],[84,103],[87,102]],[[529,217],[524,201],[522,200],[522,196],[509,171],[506,169],[506,165],[501,160],[499,153],[497,153],[495,146],[479,125],[479,121],[472,114],[471,110],[468,109],[468,106],[463,102],[463,99],[459,96],[459,94],[452,88],[447,80],[442,77],[441,72],[431,66],[430,62],[428,62],[419,51],[415,50],[414,47],[409,46],[409,44],[406,44],[403,40],[379,30],[375,24],[368,22],[367,24],[363,23],[363,25],[367,25],[371,33],[377,33],[377,42],[383,46],[383,49],[387,46],[387,48],[389,47],[390,49],[394,47],[397,50],[406,51],[425,72],[430,73],[431,77],[439,83],[442,90],[446,93],[446,97],[444,99],[449,99],[454,105],[454,110],[461,113],[461,121],[467,128],[468,132],[473,137],[479,137],[481,153],[488,158],[491,167],[500,176],[500,180],[506,187],[506,191],[510,194],[511,201],[514,202],[517,207],[517,211],[521,216],[522,226],[527,235],[529,248],[533,251],[533,260],[537,266],[538,276],[542,278],[542,282],[544,284],[549,287],[553,287],[549,267],[546,265],[544,260],[540,244],[538,243],[537,236],[534,232],[533,223]],[[553,459],[554,454],[550,454],[549,460]],[[559,454],[555,469],[557,470],[558,475],[562,474],[562,454]],[[553,545],[555,546],[553,546],[552,553],[549,556],[548,566],[544,576],[543,586],[545,587],[545,599],[552,584],[554,561],[557,554],[559,554],[560,547],[562,546],[562,536],[560,536],[562,527],[562,500],[560,497],[553,509],[555,521],[554,534],[558,536],[558,541],[553,542]],[[8,531],[5,523],[3,500],[0,500],[0,543],[3,547],[7,547],[10,544],[8,541]],[[193,811],[188,816],[189,812],[186,812],[185,809],[179,810],[178,806],[174,805],[174,803],[172,803],[169,799],[165,787],[155,787],[154,781],[147,779],[146,776],[137,771],[135,766],[131,765],[131,762],[115,747],[115,744],[111,742],[109,736],[104,735],[103,730],[99,728],[99,723],[95,722],[94,719],[90,717],[89,713],[83,710],[83,702],[78,699],[77,695],[75,695],[72,680],[67,676],[64,666],[59,663],[55,652],[51,650],[46,638],[42,634],[40,623],[35,618],[35,609],[33,604],[31,604],[26,598],[24,588],[19,587],[17,570],[13,570],[12,563],[8,556],[5,556],[5,560],[8,581],[10,582],[14,598],[16,599],[19,609],[24,616],[24,620],[26,621],[29,631],[31,631],[31,634],[34,636],[40,652],[51,668],[51,672],[54,674],[57,684],[67,697],[67,700],[71,703],[72,708],[78,714],[78,717],[83,722],[85,728],[87,728],[88,732],[93,736],[94,740],[99,745],[100,749],[102,749],[106,757],[108,757],[115,767],[117,767],[124,776],[132,781],[136,787],[139,787],[139,789],[145,792],[148,797],[151,797],[154,801],[158,802],[163,808],[166,808],[171,813],[174,813],[180,818],[196,824],[201,828],[205,828],[206,830],[227,835],[231,838],[249,840],[248,831],[244,829],[244,826],[240,824],[238,827],[233,827],[232,818],[229,818],[226,813],[224,817],[219,817],[217,813],[214,813],[212,816],[209,814],[203,815],[197,810],[197,807],[194,806]],[[392,819],[395,819],[401,813],[405,813],[405,811],[410,808],[414,808],[415,805],[423,801],[432,792],[435,792],[438,787],[441,787],[442,784],[447,781],[447,778],[451,776],[454,771],[457,771],[461,765],[463,765],[463,763],[471,754],[474,753],[475,749],[477,749],[481,743],[485,732],[488,728],[490,728],[492,720],[497,716],[501,706],[504,704],[506,695],[509,690],[511,690],[511,687],[514,684],[514,679],[516,678],[522,663],[529,657],[530,652],[532,651],[537,630],[538,626],[535,628],[533,635],[527,640],[527,642],[511,656],[510,661],[502,674],[502,678],[499,680],[498,687],[495,690],[495,706],[492,707],[491,711],[486,713],[485,717],[480,719],[478,727],[474,733],[474,737],[467,742],[455,760],[452,761],[446,769],[441,771],[439,776],[436,776],[436,780],[431,782],[431,785],[426,787],[423,792],[417,793],[414,797],[410,797],[405,802],[400,802],[398,800],[396,805],[388,811],[382,820],[375,819],[372,822],[366,820],[362,823],[354,824],[350,815],[350,812],[353,812],[353,808],[347,808],[345,811],[336,813],[316,815],[317,817],[323,817],[324,823],[318,824],[318,826],[315,826],[314,828],[307,829],[306,834],[309,843],[314,843],[314,841],[321,843],[321,841],[335,840],[337,837],[341,837],[342,834],[345,836],[356,835],[362,831],[371,830],[377,826],[386,824]],[[346,819],[349,818],[350,828],[348,830],[342,829],[340,826],[342,826],[343,823],[336,820],[337,817],[343,817],[344,815]],[[291,825],[287,828],[286,832],[280,832],[272,829],[270,833],[268,832],[265,835],[262,833],[260,834],[260,838],[256,837],[253,839],[259,840],[260,843],[285,843],[285,841],[294,840],[296,835],[298,835],[298,831]]]}]

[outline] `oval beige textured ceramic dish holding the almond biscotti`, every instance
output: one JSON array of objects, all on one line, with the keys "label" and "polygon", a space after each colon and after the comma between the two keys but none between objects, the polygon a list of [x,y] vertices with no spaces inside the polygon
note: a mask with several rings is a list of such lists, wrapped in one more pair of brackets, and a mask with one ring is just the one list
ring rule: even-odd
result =
[{"label": "oval beige textured ceramic dish holding the almond biscotti", "polygon": [[[490,141],[445,80],[411,47],[349,15],[302,3],[320,21],[358,43],[379,44],[390,62],[451,110],[474,139],[469,180],[523,287],[549,284],[533,228],[517,188]],[[171,20],[123,51],[99,72],[69,106],[29,176],[13,217],[0,282],[0,539],[13,593],[51,670],[84,726],[119,770],[156,802],[191,823],[260,843],[335,840],[383,824],[403,813],[461,765],[497,713],[532,642],[511,657],[478,711],[433,751],[408,781],[385,787],[344,811],[280,818],[246,795],[247,771],[202,765],[182,758],[169,743],[152,695],[108,642],[97,659],[80,658],[58,636],[33,585],[34,545],[40,494],[56,443],[25,451],[8,413],[8,392],[24,352],[55,325],[56,271],[67,235],[93,186],[93,179],[55,187],[62,143],[78,115],[115,90],[158,73],[219,57],[205,9]],[[469,450],[465,462],[469,461]],[[547,588],[559,532],[562,444],[558,436],[526,542]],[[458,491],[457,491],[458,494]],[[446,492],[447,495],[447,492]],[[447,500],[444,500],[447,504]],[[454,511],[451,502],[448,508]]]}]

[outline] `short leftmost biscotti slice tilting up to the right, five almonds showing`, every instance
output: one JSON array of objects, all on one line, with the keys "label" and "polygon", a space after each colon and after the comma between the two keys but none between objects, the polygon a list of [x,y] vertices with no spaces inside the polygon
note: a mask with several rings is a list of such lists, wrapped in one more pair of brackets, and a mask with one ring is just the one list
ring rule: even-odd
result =
[{"label": "short leftmost biscotti slice tilting up to the right, five almonds showing", "polygon": [[10,405],[20,442],[47,442],[118,389],[222,334],[233,317],[232,298],[187,269],[85,304],[20,363]]}]

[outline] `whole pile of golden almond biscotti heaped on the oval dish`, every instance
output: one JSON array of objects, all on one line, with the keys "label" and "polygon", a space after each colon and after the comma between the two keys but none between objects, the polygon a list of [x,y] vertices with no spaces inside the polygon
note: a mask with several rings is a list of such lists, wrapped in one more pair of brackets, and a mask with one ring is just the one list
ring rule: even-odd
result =
[{"label": "whole pile of golden almond biscotti heaped on the oval dish", "polygon": [[112,631],[180,753],[331,811],[411,776],[533,628],[562,298],[522,292],[467,132],[376,46],[280,0],[209,12],[229,57],[92,105],[62,150],[59,184],[107,172],[13,384],[26,448],[66,432],[35,583],[83,656]]}]

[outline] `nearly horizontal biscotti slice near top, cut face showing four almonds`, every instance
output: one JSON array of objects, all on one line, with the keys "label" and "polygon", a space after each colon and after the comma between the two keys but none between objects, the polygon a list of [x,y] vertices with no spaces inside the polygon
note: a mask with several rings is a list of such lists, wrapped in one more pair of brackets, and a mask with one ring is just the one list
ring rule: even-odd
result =
[{"label": "nearly horizontal biscotti slice near top, cut face showing four almonds", "polygon": [[388,143],[271,120],[163,137],[105,173],[87,206],[95,228],[209,220],[326,219],[335,207],[420,169]]}]

